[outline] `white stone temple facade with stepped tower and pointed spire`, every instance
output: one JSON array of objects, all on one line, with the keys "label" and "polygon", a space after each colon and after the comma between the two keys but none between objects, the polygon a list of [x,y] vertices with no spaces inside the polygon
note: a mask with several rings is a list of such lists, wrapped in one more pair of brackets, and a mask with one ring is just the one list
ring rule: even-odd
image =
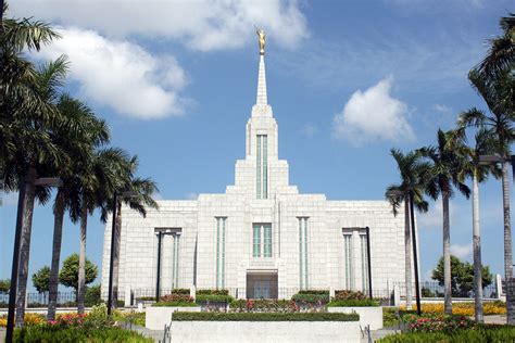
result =
[{"label": "white stone temple facade with stepped tower and pointed spire", "polygon": [[[197,201],[159,201],[146,218],[122,209],[118,297],[153,289],[163,237],[161,288],[226,288],[238,297],[289,297],[299,289],[367,290],[369,228],[374,290],[404,280],[404,220],[386,201],[330,201],[289,185],[278,158],[278,128],[266,102],[264,58],[256,105],[247,124],[246,158],[235,185]],[[111,220],[105,226],[102,290],[106,294]]]}]

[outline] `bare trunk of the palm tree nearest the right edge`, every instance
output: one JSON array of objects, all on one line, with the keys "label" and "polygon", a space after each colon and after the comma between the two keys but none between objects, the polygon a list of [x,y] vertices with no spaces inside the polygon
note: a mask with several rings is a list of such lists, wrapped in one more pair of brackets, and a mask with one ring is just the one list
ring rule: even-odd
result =
[{"label": "bare trunk of the palm tree nearest the right edge", "polygon": [[504,214],[504,280],[506,282],[506,321],[515,323],[515,307],[513,304],[513,290],[511,281],[513,278],[512,257],[512,226],[510,219],[510,179],[507,175],[507,162],[502,165],[502,206]]}]

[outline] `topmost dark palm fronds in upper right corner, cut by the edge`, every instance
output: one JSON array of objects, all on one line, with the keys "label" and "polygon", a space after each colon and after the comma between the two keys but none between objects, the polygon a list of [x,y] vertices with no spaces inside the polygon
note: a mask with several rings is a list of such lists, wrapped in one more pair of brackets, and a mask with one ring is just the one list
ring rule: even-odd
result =
[{"label": "topmost dark palm fronds in upper right corner, cut by the edge", "polygon": [[476,72],[489,80],[513,69],[515,63],[515,13],[501,17],[499,25],[502,35],[490,40],[490,50],[485,59],[475,67]]}]

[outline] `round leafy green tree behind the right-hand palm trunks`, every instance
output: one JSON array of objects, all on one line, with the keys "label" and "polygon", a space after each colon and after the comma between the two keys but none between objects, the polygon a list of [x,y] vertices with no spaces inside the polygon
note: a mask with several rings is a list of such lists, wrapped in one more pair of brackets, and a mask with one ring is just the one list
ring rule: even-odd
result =
[{"label": "round leafy green tree behind the right-hand palm trunks", "polygon": [[[456,256],[451,255],[451,287],[452,296],[468,297],[474,293],[474,265],[468,262],[461,262]],[[444,284],[443,257],[440,257],[437,267],[432,270],[431,278],[440,285]],[[488,266],[481,268],[482,285],[488,287],[493,281],[493,276]]]}]

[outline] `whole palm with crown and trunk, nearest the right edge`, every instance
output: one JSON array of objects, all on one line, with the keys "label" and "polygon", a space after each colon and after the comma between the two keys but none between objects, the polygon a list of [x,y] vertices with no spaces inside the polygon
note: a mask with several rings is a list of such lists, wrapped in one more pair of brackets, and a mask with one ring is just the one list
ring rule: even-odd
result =
[{"label": "whole palm with crown and trunk, nearest the right edge", "polygon": [[[463,126],[483,126],[497,139],[495,152],[505,161],[511,154],[510,145],[515,141],[513,120],[515,118],[515,76],[507,69],[495,79],[488,80],[478,71],[473,69],[468,78],[487,103],[490,114],[481,110],[472,109],[463,115]],[[504,278],[508,282],[513,278],[512,264],[512,227],[510,218],[510,179],[508,162],[502,163],[502,194],[504,216]],[[508,288],[506,288],[508,290]],[[508,302],[512,292],[506,292],[507,322],[515,323],[515,308]]]}]

